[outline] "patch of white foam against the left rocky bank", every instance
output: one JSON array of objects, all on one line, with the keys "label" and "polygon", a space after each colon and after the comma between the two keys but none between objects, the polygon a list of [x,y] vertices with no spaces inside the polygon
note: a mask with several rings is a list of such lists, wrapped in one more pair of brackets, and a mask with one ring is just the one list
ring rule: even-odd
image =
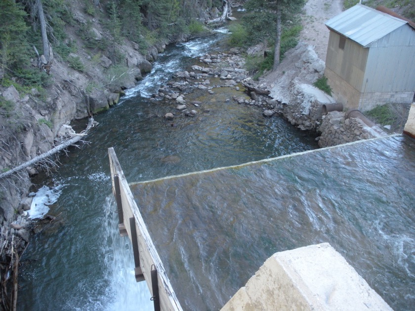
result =
[{"label": "patch of white foam against the left rocky bank", "polygon": [[33,197],[30,210],[27,211],[29,217],[31,219],[37,219],[46,215],[49,211],[48,205],[51,205],[58,200],[64,186],[65,185],[59,185],[54,188],[43,186],[36,193],[31,193],[31,195],[34,194],[35,196]]}]

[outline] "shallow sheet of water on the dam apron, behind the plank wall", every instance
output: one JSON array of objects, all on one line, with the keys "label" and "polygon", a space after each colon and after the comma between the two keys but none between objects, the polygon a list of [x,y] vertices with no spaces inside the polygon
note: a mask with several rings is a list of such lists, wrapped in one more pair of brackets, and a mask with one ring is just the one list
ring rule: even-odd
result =
[{"label": "shallow sheet of water on the dam apron, behind the plank wall", "polygon": [[184,310],[218,310],[273,253],[321,242],[410,310],[414,180],[397,135],[130,188]]}]

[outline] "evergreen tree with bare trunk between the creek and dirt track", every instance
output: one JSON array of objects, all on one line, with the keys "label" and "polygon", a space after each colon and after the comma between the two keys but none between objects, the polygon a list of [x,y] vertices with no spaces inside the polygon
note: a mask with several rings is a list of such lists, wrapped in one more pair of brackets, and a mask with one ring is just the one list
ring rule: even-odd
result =
[{"label": "evergreen tree with bare trunk between the creek and dirt track", "polygon": [[274,69],[280,64],[281,23],[299,13],[304,3],[305,0],[248,0],[245,4],[252,12],[256,28],[275,36]]}]

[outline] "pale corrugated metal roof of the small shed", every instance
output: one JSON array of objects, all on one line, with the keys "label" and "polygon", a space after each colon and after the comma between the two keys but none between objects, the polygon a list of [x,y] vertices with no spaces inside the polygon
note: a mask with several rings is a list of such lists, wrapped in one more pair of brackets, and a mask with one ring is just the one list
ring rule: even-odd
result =
[{"label": "pale corrugated metal roof of the small shed", "polygon": [[367,46],[408,22],[362,4],[334,16],[326,26],[335,32]]}]

